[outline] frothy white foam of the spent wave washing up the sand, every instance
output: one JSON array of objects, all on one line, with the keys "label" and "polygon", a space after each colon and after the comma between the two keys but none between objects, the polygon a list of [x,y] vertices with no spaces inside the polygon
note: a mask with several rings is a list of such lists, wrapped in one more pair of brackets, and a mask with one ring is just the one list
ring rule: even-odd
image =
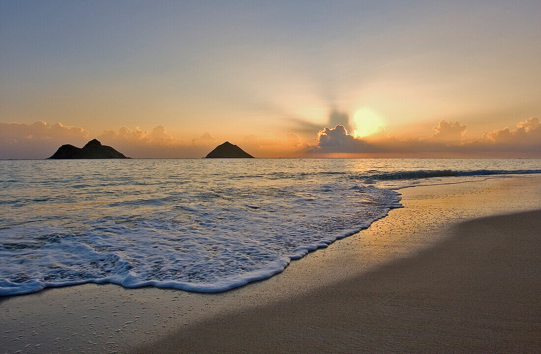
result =
[{"label": "frothy white foam of the spent wave washing up the sand", "polygon": [[86,282],[228,290],[367,228],[398,201],[394,191],[333,183],[228,203],[174,203],[174,212],[83,216],[75,230],[16,225],[0,233],[0,295]]}]

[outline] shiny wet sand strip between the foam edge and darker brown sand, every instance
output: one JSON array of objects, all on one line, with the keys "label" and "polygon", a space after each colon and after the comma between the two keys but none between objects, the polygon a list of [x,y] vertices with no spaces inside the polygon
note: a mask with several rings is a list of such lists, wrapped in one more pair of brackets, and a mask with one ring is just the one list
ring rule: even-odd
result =
[{"label": "shiny wet sand strip between the foam edge and darker brown sand", "polygon": [[[5,309],[0,325],[4,346],[2,352],[65,352],[70,349],[76,352],[111,353],[149,350],[174,352],[171,350],[176,349],[182,352],[178,340],[171,342],[174,338],[183,338],[182,333],[192,333],[190,338],[193,338],[192,343],[182,342],[184,348],[199,348],[200,352],[206,348],[212,351],[203,342],[212,338],[210,333],[213,328],[219,328],[216,324],[228,323],[230,329],[235,329],[234,337],[248,340],[249,337],[243,335],[254,330],[242,326],[242,320],[246,319],[243,316],[247,316],[247,313],[293,304],[296,299],[321,289],[335,288],[345,294],[345,289],[349,288],[344,284],[349,284],[352,279],[366,277],[386,264],[412,259],[419,252],[433,248],[438,242],[445,242],[454,235],[454,231],[450,231],[453,225],[461,221],[523,212],[541,206],[539,177],[417,186],[399,192],[403,194],[401,203],[405,208],[392,210],[389,216],[357,235],[293,261],[279,275],[227,292],[204,294],[175,289],[126,289],[112,284],[84,284],[3,299],[0,302],[0,306]],[[516,226],[518,230],[525,229],[526,224],[521,225],[522,228]],[[516,253],[511,256],[520,256],[520,252]],[[374,279],[372,281],[375,282]],[[311,310],[306,309],[312,317],[305,318],[302,323],[295,320],[295,326],[311,329],[305,332],[306,343],[310,339],[314,345],[319,343],[321,346],[318,333],[332,332],[340,335],[339,331],[334,331],[337,328],[333,330],[328,323],[321,327],[315,321],[321,309],[336,303],[339,302],[335,298],[318,296],[318,302],[311,303]],[[372,338],[368,334],[362,335],[364,328],[360,324],[362,321],[352,327],[358,330],[357,337],[355,333],[348,332],[350,339]],[[291,325],[285,326],[282,331],[289,329],[291,332],[291,328]],[[196,331],[203,334],[197,337]],[[531,334],[535,333],[530,331]],[[273,346],[276,350],[284,348],[276,343],[287,344],[286,338],[274,338]],[[227,344],[230,345],[227,347],[221,339],[207,342],[216,345],[222,343],[220,345],[223,348],[231,348],[233,352],[243,351],[243,348],[233,343]],[[250,343],[262,348],[265,341],[261,339],[261,343],[258,343],[258,340]],[[347,340],[341,342],[348,343]],[[337,338],[328,345],[334,345],[335,348],[341,342]],[[420,351],[430,351],[431,346],[428,344]],[[308,345],[307,348],[312,347]],[[321,348],[329,349],[324,345]],[[393,348],[400,351],[400,348],[409,347]],[[362,351],[362,348],[358,350]]]}]

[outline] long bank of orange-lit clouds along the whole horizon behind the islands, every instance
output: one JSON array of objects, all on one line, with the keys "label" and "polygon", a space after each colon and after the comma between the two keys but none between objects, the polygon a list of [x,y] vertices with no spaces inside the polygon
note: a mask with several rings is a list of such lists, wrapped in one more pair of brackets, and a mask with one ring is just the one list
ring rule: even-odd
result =
[{"label": "long bank of orange-lit clouds along the whole horizon behind the islands", "polygon": [[[246,135],[234,142],[256,157],[517,157],[541,158],[541,123],[536,117],[519,122],[515,128],[505,127],[486,131],[478,138],[465,138],[467,125],[441,120],[427,137],[397,139],[385,128],[366,137],[349,133],[347,115],[331,114],[329,123],[312,141],[302,141],[295,133],[284,138],[268,133],[266,136]],[[332,125],[331,125],[332,126]],[[0,123],[0,158],[46,158],[62,144],[84,145],[89,132],[81,127],[62,123],[38,121],[32,124]],[[136,127],[104,130],[96,137],[105,145],[134,158],[203,157],[215,145],[222,143],[205,132],[192,140],[170,135],[162,125],[147,131]]]}]

